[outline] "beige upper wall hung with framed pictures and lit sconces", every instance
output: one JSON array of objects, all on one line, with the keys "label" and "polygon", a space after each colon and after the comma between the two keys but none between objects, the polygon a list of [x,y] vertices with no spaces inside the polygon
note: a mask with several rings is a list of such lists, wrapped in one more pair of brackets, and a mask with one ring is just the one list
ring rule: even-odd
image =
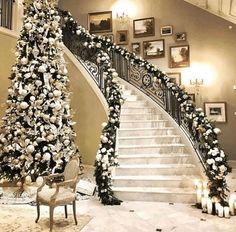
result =
[{"label": "beige upper wall hung with framed pictures and lit sconces", "polygon": [[[160,27],[172,25],[174,33],[187,32],[186,43],[190,45],[191,64],[201,63],[211,68],[211,76],[208,74],[204,76],[205,85],[200,88],[197,105],[203,107],[205,101],[225,101],[227,103],[227,123],[216,123],[216,126],[222,130],[219,139],[229,158],[236,159],[234,138],[236,131],[236,116],[234,115],[236,112],[236,90],[233,90],[233,85],[236,85],[236,25],[232,25],[230,22],[182,0],[125,0],[124,2],[124,9],[128,8],[130,2],[135,4],[129,13],[132,18],[129,25],[126,26],[121,26],[116,20],[113,20],[112,33],[115,35],[116,30],[128,29],[130,43],[165,39],[165,58],[152,59],[150,62],[166,72],[181,72],[183,84],[189,92],[193,92],[194,88],[189,86],[189,77],[195,73],[186,74],[187,68],[168,68],[169,46],[177,45],[177,43],[172,36],[161,37]],[[87,13],[112,10],[113,18],[115,18],[114,4],[116,3],[116,0],[60,0],[59,7],[69,10],[74,18],[87,28]],[[132,19],[152,16],[155,17],[155,36],[133,39]],[[233,28],[230,30],[229,26],[231,25]]]}]

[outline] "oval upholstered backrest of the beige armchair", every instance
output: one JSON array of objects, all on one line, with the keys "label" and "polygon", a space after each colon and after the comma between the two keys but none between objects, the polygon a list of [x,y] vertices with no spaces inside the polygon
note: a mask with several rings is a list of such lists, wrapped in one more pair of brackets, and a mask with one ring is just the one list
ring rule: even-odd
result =
[{"label": "oval upholstered backrest of the beige armchair", "polygon": [[72,180],[78,178],[79,175],[79,158],[73,157],[71,160],[66,164],[64,170],[64,178],[66,180]]}]

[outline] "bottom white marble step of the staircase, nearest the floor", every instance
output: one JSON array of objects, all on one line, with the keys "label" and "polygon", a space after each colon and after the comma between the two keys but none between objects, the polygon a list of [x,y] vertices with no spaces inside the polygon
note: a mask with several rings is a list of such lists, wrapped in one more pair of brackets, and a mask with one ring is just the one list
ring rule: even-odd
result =
[{"label": "bottom white marble step of the staircase, nearest the floor", "polygon": [[196,193],[189,188],[113,187],[112,190],[123,201],[196,202]]}]

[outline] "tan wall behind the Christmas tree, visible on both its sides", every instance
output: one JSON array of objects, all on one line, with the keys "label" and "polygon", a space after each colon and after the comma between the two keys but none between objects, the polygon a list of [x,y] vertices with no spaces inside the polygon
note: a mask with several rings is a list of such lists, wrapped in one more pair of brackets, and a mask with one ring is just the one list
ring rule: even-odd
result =
[{"label": "tan wall behind the Christmas tree, visible on both its sides", "polygon": [[[7,97],[11,66],[14,64],[16,38],[0,31],[0,117],[5,115],[3,104]],[[88,80],[68,58],[70,77],[71,107],[74,113],[74,129],[77,133],[76,144],[79,146],[84,164],[93,165],[101,135],[101,123],[107,121],[106,107],[99,99],[99,90],[92,88]],[[96,89],[97,88],[97,89]],[[95,89],[95,90],[94,90]],[[98,91],[96,94],[95,91]],[[101,98],[101,97],[100,97]]]}]

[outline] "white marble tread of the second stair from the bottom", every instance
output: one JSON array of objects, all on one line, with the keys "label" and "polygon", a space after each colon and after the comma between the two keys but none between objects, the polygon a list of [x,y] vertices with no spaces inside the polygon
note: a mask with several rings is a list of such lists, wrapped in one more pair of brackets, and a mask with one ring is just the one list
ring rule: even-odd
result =
[{"label": "white marble tread of the second stair from the bottom", "polygon": [[149,176],[113,176],[113,180],[153,180],[153,181],[161,181],[161,180],[194,180],[198,179],[199,176],[193,175],[149,175]]}]

